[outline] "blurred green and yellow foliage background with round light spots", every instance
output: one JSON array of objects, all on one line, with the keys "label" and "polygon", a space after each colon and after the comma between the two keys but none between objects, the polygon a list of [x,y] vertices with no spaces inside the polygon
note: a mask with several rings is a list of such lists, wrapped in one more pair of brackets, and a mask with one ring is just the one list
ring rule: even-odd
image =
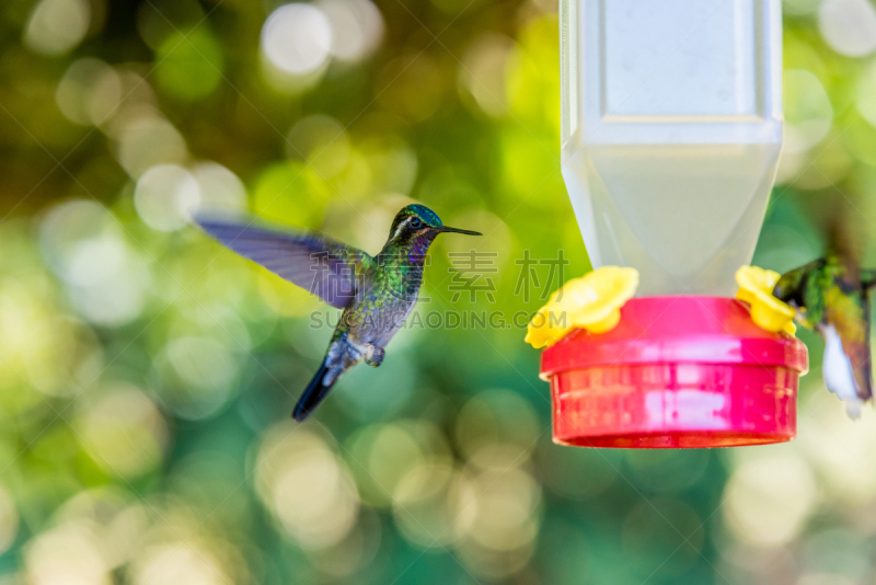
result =
[{"label": "blurred green and yellow foliage background with round light spots", "polygon": [[[754,262],[820,254],[834,214],[874,260],[876,13],[785,11]],[[514,294],[525,250],[589,267],[557,44],[550,0],[0,3],[0,583],[873,582],[876,423],[823,391],[815,335],[794,444],[551,444],[511,319],[541,305]],[[495,302],[453,308],[506,321],[405,330],[292,424],[336,311],[188,213],[373,252],[412,199],[487,234]],[[461,240],[434,246],[420,317],[450,309]]]}]

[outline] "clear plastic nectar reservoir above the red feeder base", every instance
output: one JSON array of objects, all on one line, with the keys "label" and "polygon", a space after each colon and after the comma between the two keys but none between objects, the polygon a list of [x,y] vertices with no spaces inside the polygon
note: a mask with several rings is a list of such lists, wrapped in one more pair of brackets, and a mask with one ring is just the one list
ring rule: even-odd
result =
[{"label": "clear plastic nectar reservoir above the red feeder base", "polygon": [[563,176],[593,266],[725,295],[782,145],[779,0],[562,0]]}]

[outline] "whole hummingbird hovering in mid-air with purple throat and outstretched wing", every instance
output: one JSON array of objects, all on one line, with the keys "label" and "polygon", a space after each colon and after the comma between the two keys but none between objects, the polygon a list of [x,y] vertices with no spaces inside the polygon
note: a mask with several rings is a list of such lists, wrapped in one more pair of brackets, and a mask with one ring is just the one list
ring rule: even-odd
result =
[{"label": "whole hummingbird hovering in mid-air with purple throat and outstretched wing", "polygon": [[280,231],[252,221],[195,217],[238,254],[343,309],[325,357],[292,411],[301,422],[350,368],[378,367],[387,344],[414,309],[426,253],[439,233],[482,236],[445,226],[425,205],[403,207],[376,256],[309,231]]}]

